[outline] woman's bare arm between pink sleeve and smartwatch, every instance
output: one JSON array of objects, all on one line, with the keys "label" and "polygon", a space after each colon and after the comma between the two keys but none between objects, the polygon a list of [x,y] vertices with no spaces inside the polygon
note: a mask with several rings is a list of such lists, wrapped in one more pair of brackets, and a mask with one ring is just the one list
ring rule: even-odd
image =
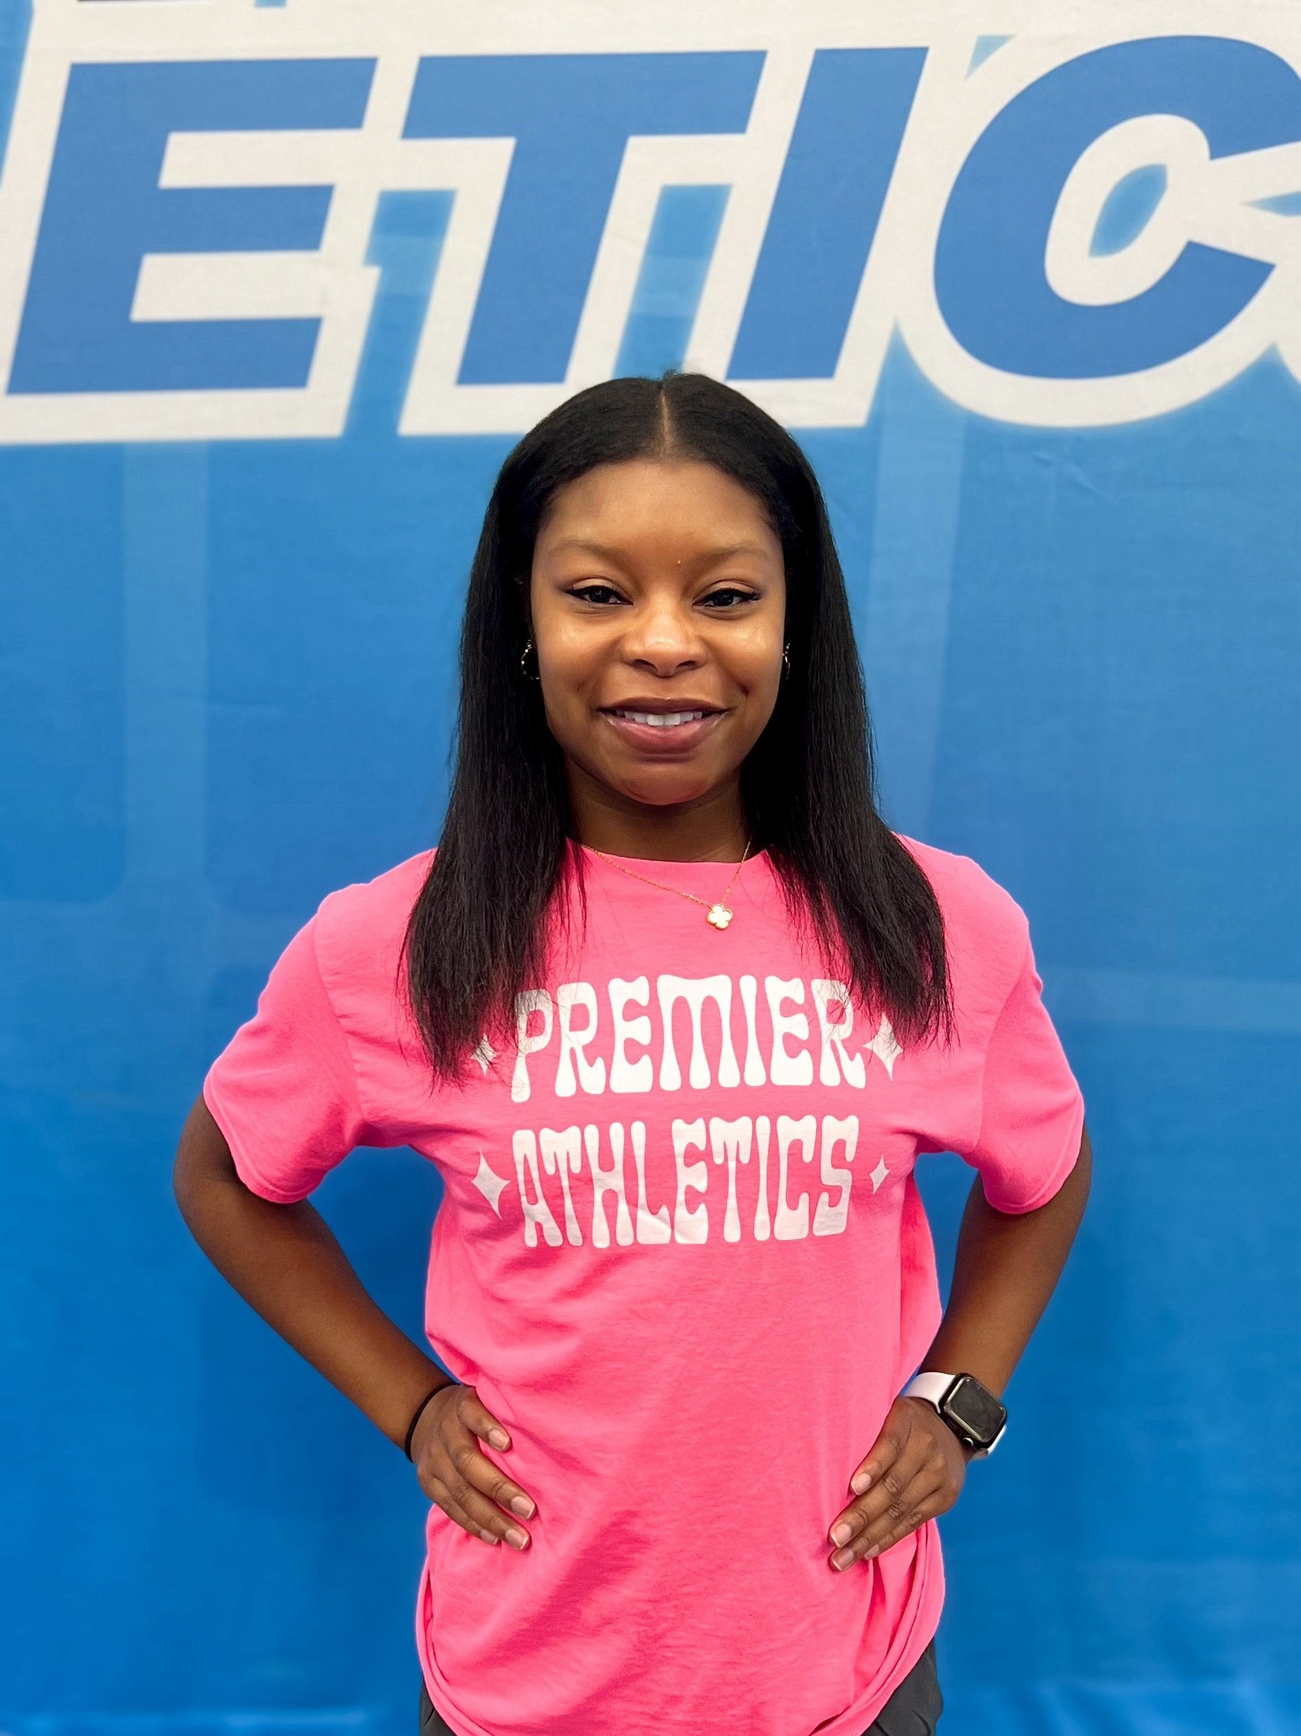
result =
[{"label": "woman's bare arm between pink sleeve and smartwatch", "polygon": [[1034,1212],[996,1212],[977,1177],[958,1234],[949,1305],[923,1368],[970,1373],[1003,1394],[1062,1276],[1091,1174],[1086,1128],[1074,1170]]}]

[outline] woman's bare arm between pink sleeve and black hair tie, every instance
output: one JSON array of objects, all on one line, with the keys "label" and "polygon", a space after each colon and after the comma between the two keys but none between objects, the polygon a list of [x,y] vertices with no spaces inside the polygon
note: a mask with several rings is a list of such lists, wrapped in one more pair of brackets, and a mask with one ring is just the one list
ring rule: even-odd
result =
[{"label": "woman's bare arm between pink sleeve and black hair tie", "polygon": [[401,1446],[420,1401],[448,1377],[366,1293],[316,1207],[262,1200],[236,1175],[182,1170],[175,1194],[217,1271]]}]

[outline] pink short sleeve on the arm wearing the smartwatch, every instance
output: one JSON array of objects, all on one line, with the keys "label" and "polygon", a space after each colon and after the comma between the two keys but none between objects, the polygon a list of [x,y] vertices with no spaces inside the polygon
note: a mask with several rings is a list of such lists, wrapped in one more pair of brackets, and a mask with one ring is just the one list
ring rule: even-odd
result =
[{"label": "pink short sleeve on the arm wearing the smartwatch", "polygon": [[980,1132],[959,1156],[980,1170],[997,1212],[1032,1212],[1058,1191],[1079,1156],[1084,1097],[1043,1003],[1025,934],[1008,998],[982,1068]]}]

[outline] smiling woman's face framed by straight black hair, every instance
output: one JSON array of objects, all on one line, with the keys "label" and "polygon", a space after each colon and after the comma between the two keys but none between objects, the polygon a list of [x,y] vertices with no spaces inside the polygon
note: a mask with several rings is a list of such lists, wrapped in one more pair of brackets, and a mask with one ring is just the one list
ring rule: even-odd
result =
[{"label": "smiling woman's face framed by straight black hair", "polygon": [[735,778],[786,621],[781,540],[748,490],[697,460],[588,470],[552,500],[529,604],[571,783],[663,807]]}]

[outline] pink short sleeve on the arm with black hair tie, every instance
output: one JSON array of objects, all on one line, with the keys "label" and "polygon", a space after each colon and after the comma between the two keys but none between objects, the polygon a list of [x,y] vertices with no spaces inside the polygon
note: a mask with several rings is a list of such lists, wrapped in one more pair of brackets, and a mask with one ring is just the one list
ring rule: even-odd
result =
[{"label": "pink short sleeve on the arm with black hair tie", "polygon": [[203,1080],[203,1101],[239,1179],[281,1205],[305,1200],[369,1132],[347,1036],[317,965],[316,922],[288,943],[257,1012]]}]

